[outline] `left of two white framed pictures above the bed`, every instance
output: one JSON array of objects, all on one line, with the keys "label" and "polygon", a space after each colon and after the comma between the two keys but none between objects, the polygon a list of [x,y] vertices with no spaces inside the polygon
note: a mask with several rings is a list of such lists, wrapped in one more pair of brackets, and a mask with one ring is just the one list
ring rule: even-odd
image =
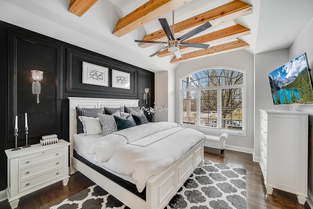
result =
[{"label": "left of two white framed pictures above the bed", "polygon": [[109,69],[83,62],[83,84],[109,86]]}]

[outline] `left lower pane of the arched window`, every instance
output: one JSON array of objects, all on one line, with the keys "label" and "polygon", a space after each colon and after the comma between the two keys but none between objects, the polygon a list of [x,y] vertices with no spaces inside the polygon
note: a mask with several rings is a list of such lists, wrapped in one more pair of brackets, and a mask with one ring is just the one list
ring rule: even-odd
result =
[{"label": "left lower pane of the arched window", "polygon": [[197,92],[182,92],[182,123],[197,125]]}]

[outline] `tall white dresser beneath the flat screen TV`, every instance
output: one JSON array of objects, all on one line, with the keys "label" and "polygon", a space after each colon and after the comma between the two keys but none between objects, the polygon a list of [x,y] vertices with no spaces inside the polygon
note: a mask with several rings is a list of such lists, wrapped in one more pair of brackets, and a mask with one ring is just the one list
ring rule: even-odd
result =
[{"label": "tall white dresser beneath the flat screen TV", "polygon": [[261,169],[268,194],[273,188],[308,197],[308,114],[261,111]]}]

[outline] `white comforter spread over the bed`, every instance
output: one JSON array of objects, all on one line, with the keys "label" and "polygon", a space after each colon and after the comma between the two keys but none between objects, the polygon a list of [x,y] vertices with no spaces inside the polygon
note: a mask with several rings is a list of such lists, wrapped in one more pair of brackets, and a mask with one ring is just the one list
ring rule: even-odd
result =
[{"label": "white comforter spread over the bed", "polygon": [[141,192],[146,180],[175,163],[204,135],[177,123],[157,122],[124,129],[89,148],[93,163],[132,176]]}]

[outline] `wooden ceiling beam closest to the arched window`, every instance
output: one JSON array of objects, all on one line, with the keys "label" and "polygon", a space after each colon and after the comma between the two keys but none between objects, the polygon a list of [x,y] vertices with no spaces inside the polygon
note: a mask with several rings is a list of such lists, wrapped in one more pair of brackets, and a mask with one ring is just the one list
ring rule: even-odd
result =
[{"label": "wooden ceiling beam closest to the arched window", "polygon": [[218,46],[212,46],[208,47],[206,49],[201,49],[198,51],[193,51],[185,54],[181,54],[181,58],[177,59],[174,57],[171,60],[171,63],[180,63],[180,62],[185,62],[188,60],[194,60],[194,59],[199,59],[202,57],[208,57],[216,54],[222,54],[230,51],[235,51],[243,48],[248,48],[250,45],[248,45],[246,42],[242,40],[234,41],[234,42],[229,42],[226,44],[218,45]]}]

